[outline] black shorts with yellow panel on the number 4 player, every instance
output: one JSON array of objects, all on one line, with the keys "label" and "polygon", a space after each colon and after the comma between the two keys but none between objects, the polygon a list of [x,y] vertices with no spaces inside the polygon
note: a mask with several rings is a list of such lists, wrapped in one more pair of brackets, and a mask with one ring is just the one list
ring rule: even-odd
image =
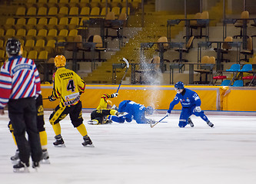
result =
[{"label": "black shorts with yellow panel on the number 4 player", "polygon": [[78,104],[67,106],[67,107],[59,107],[59,105],[55,108],[53,113],[51,114],[49,120],[51,124],[59,123],[69,114],[71,123],[74,127],[78,127],[83,123],[83,118],[81,116],[81,101]]}]

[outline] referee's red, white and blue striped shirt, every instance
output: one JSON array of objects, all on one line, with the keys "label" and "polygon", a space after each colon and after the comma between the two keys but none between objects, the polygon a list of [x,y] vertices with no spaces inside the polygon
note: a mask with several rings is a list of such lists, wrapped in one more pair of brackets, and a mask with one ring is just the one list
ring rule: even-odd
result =
[{"label": "referee's red, white and blue striped shirt", "polygon": [[0,71],[0,108],[9,99],[37,97],[37,94],[41,94],[41,86],[34,61],[21,55],[8,58]]}]

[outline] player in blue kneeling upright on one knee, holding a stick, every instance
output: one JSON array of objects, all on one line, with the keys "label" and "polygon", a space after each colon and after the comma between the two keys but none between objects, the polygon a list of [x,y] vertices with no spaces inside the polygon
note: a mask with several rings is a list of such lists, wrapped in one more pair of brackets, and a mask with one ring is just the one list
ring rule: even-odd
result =
[{"label": "player in blue kneeling upright on one knee, holding a stick", "polygon": [[201,100],[197,93],[195,93],[193,90],[185,88],[183,82],[181,81],[175,84],[175,90],[177,94],[175,99],[172,100],[166,116],[169,116],[175,105],[181,102],[182,110],[178,126],[185,127],[187,124],[189,124],[191,127],[193,127],[194,123],[192,123],[190,118],[192,114],[197,117],[201,117],[201,119],[203,119],[208,126],[214,126],[214,124],[208,120],[208,117],[205,116],[204,111],[201,110]]}]

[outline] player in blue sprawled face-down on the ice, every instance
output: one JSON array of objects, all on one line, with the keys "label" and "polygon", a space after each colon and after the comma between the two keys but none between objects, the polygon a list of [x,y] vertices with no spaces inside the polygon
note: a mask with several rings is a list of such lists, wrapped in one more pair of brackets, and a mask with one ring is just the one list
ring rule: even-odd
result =
[{"label": "player in blue sprawled face-down on the ice", "polygon": [[150,115],[154,112],[153,107],[145,107],[144,105],[137,104],[134,101],[131,100],[124,100],[121,101],[121,103],[118,106],[118,112],[123,113],[126,112],[126,114],[123,117],[115,117],[111,116],[110,119],[118,122],[118,123],[124,123],[125,120],[127,122],[131,122],[131,120],[135,120],[136,123],[142,124],[142,123],[155,123],[155,120],[150,120],[145,117],[146,114]]}]

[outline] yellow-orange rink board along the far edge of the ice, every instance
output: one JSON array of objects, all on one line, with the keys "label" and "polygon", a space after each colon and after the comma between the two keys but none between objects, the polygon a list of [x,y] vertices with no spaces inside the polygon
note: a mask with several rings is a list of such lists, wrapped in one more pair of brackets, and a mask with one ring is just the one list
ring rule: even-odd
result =
[{"label": "yellow-orange rink board along the far edge of the ice", "polygon": [[[185,86],[198,93],[201,98],[202,110],[234,110],[256,111],[256,87],[219,87],[219,86]],[[83,108],[98,107],[102,94],[113,94],[118,85],[86,85],[85,94],[81,95]],[[42,84],[42,96],[52,94],[52,85]],[[168,86],[131,86],[121,85],[118,97],[112,98],[113,104],[118,106],[122,100],[133,100],[139,104],[155,107],[157,110],[168,110],[169,104],[175,97],[174,85]],[[50,102],[44,100],[45,109],[53,109],[58,100]],[[181,104],[174,110],[181,110]]]}]

